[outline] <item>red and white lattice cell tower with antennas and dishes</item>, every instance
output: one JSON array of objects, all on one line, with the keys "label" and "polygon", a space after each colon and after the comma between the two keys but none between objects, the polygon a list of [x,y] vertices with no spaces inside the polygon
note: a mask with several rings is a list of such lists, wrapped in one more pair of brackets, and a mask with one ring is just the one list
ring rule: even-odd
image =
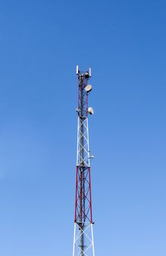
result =
[{"label": "red and white lattice cell tower with antennas and dishes", "polygon": [[88,142],[88,115],[93,115],[93,108],[88,108],[88,94],[92,86],[88,84],[91,78],[91,68],[81,72],[76,67],[78,75],[78,142],[76,164],[75,192],[75,228],[72,256],[94,256],[94,236],[91,200],[91,165]]}]

